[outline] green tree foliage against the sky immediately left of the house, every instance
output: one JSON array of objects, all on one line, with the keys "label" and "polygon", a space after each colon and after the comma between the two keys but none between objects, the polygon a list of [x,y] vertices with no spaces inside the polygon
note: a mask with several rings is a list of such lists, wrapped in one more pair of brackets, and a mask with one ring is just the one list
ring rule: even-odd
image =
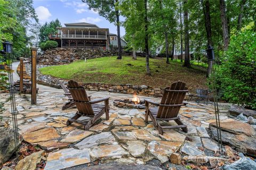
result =
[{"label": "green tree foliage against the sky immediately left of the house", "polygon": [[49,40],[50,34],[58,33],[57,27],[61,27],[61,23],[58,19],[51,21],[49,23],[45,22],[42,27],[39,29],[39,40],[44,42]]}]

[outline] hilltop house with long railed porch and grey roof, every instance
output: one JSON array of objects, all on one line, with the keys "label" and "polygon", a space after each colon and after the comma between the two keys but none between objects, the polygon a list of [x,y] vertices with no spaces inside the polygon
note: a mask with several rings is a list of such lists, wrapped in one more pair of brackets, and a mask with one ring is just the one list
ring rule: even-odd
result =
[{"label": "hilltop house with long railed porch and grey roof", "polygon": [[59,27],[56,35],[49,35],[51,40],[58,42],[59,47],[109,49],[108,28],[86,22],[65,23],[65,26]]}]

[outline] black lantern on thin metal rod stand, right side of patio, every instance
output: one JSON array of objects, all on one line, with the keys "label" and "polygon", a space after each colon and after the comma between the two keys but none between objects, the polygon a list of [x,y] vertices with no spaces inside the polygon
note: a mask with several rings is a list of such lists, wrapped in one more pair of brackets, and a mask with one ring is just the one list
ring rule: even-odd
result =
[{"label": "black lantern on thin metal rod stand, right side of patio", "polygon": [[219,106],[218,106],[218,96],[217,96],[217,89],[216,89],[216,78],[215,78],[215,70],[214,70],[214,50],[212,46],[208,46],[208,49],[206,49],[207,52],[207,59],[208,61],[213,61],[213,73],[212,73],[212,91],[213,91],[213,101],[214,101],[214,111],[215,111],[215,120],[216,120],[216,126],[217,126],[217,137],[218,137],[218,146],[220,149],[220,152],[222,152],[222,140],[221,140],[221,130],[220,130],[220,116],[219,116]]}]

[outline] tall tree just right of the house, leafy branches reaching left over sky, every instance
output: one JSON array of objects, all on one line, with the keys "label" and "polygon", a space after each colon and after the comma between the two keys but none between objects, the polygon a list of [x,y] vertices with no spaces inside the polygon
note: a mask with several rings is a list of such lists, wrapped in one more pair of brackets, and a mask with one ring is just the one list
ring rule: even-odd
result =
[{"label": "tall tree just right of the house, leafy branches reaching left over sky", "polygon": [[121,36],[120,36],[120,25],[119,21],[119,10],[118,0],[82,0],[89,6],[89,9],[97,11],[100,16],[106,18],[109,22],[115,23],[117,27],[117,44],[118,44],[118,57],[117,59],[122,59],[122,47],[121,47]]}]

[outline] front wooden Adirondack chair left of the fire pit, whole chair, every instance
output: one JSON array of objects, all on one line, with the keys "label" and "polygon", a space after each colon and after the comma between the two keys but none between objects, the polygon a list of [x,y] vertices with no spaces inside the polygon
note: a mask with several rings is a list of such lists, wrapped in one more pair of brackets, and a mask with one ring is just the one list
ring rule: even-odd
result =
[{"label": "front wooden Adirondack chair left of the fire pit, whole chair", "polygon": [[[73,97],[73,102],[75,103],[78,112],[75,116],[69,118],[67,125],[72,122],[76,122],[84,125],[84,130],[89,130],[89,128],[99,120],[100,116],[106,113],[106,119],[109,119],[109,97],[101,98],[97,100],[89,100],[86,91],[83,86],[79,86],[77,82],[70,80],[68,82],[68,90]],[[104,101],[105,105],[95,104]],[[77,120],[81,116],[92,117],[90,119],[79,121]]]}]

